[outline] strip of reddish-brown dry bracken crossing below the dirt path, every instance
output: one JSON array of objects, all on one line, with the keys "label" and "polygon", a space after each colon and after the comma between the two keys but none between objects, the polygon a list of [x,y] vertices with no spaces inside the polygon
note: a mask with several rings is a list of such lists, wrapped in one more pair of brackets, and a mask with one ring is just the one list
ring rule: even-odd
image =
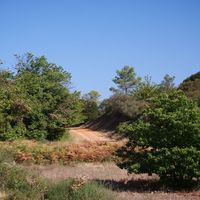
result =
[{"label": "strip of reddish-brown dry bracken crossing below the dirt path", "polygon": [[21,141],[0,143],[0,148],[14,152],[17,163],[35,164],[66,164],[71,161],[102,162],[113,159],[113,152],[121,146],[118,142],[89,142],[79,144],[66,142],[40,143],[35,141]]}]

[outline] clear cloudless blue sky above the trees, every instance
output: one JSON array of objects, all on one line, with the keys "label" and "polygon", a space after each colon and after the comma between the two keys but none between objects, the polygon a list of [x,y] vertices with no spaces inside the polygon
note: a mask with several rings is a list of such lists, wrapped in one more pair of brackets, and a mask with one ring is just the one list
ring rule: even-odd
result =
[{"label": "clear cloudless blue sky above the trees", "polygon": [[200,0],[0,0],[0,58],[32,52],[72,73],[74,90],[111,93],[124,65],[179,84],[200,71]]}]

